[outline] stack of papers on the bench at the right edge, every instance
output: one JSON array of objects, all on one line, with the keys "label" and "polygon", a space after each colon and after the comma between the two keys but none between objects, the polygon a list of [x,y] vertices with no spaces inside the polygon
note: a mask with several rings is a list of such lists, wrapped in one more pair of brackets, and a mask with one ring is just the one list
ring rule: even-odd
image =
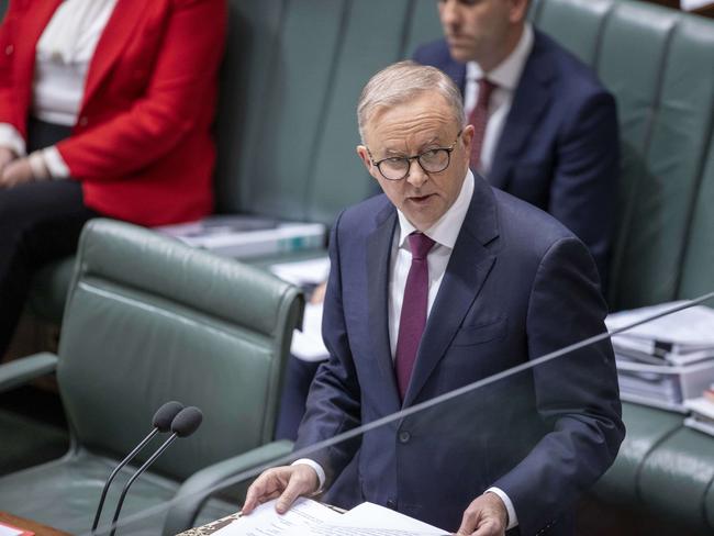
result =
[{"label": "stack of papers on the bench at the right edge", "polygon": [[[610,332],[683,302],[611,314]],[[612,336],[623,400],[687,413],[714,381],[714,311],[684,309]]]}]

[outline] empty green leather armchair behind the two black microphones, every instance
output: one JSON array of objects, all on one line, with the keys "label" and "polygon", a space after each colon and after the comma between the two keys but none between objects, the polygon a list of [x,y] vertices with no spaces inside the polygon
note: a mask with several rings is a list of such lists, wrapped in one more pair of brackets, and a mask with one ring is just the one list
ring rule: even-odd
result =
[{"label": "empty green leather armchair behind the two black microphones", "polygon": [[[1,478],[2,510],[88,532],[111,469],[168,400],[201,407],[203,424],[135,482],[122,514],[183,500],[169,514],[119,533],[158,534],[163,527],[175,534],[191,526],[202,504],[202,521],[237,510],[238,498],[204,503],[194,493],[290,451],[289,442],[270,439],[301,314],[300,291],[261,270],[141,227],[92,221],[80,239],[58,356],[0,367],[0,390],[56,371],[71,448],[58,460]],[[118,477],[103,520],[111,520],[134,469]]]}]

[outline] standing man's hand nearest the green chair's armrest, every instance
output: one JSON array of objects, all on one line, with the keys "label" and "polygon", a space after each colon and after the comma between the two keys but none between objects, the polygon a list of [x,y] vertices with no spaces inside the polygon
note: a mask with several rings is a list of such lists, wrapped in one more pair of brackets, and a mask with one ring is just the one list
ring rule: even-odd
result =
[{"label": "standing man's hand nearest the green chair's armrest", "polygon": [[275,467],[263,472],[248,488],[243,504],[243,515],[271,499],[280,498],[276,504],[279,514],[285,514],[299,496],[317,491],[320,481],[315,470],[306,465]]}]

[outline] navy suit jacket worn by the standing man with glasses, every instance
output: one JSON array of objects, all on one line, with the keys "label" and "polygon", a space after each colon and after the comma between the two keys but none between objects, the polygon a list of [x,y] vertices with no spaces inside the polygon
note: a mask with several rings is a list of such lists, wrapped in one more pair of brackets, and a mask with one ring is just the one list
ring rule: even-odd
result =
[{"label": "navy suit jacket worn by the standing man with glasses", "polygon": [[[323,316],[331,357],[313,381],[297,448],[402,406],[387,316],[395,227],[384,196],[346,210],[333,227]],[[562,225],[477,177],[404,406],[601,333],[595,270]],[[314,458],[332,484],[326,500],[345,507],[368,500],[455,531],[469,502],[498,485],[521,534],[550,524],[548,534],[569,534],[564,515],[612,464],[623,436],[606,342]]]}]

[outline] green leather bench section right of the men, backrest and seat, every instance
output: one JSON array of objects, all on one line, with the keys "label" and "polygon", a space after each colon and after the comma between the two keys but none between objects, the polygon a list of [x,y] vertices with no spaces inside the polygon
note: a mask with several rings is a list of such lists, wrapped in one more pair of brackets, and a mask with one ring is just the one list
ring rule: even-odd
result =
[{"label": "green leather bench section right of the men, backrest and seat", "polygon": [[[617,99],[624,161],[613,192],[612,308],[711,291],[714,23],[625,0],[537,0],[531,16]],[[712,534],[714,438],[674,413],[623,405],[627,437],[595,495],[657,520],[650,534]]]}]

